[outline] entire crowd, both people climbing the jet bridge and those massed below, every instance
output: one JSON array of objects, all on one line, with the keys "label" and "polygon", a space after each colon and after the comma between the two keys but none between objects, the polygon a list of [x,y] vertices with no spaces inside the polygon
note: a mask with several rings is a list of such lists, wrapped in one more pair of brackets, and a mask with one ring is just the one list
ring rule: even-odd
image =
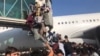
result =
[{"label": "entire crowd, both people climbing the jet bridge and those massed below", "polygon": [[[41,1],[41,0],[40,0]],[[65,35],[65,40],[62,40],[61,34],[51,33],[49,29],[49,35],[47,41],[46,37],[46,21],[45,18],[51,8],[45,3],[30,4],[31,13],[28,15],[27,24],[29,25],[31,32],[34,33],[36,39],[41,38],[44,41],[44,47],[31,49],[28,54],[22,54],[15,47],[8,47],[5,50],[5,56],[99,56],[100,49],[94,45],[88,43],[75,43],[68,40],[68,36]],[[46,18],[47,19],[47,18]]]}]

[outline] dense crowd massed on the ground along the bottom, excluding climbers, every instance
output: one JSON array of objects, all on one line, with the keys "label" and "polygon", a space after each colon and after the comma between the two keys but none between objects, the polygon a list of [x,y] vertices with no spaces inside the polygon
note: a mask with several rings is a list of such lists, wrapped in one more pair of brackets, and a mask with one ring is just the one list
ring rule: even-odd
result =
[{"label": "dense crowd massed on the ground along the bottom, excluding climbers", "polygon": [[28,54],[19,54],[15,47],[8,47],[5,56],[99,56],[100,49],[95,45],[88,43],[75,43],[68,40],[62,40],[61,35],[56,36],[57,40],[52,40],[52,44],[45,42],[44,47],[31,49]]}]

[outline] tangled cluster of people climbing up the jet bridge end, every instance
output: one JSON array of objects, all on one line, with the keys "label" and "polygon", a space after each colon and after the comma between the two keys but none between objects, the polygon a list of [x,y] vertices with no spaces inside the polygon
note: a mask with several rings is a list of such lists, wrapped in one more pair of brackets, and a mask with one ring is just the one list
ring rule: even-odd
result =
[{"label": "tangled cluster of people climbing up the jet bridge end", "polygon": [[33,27],[31,28],[31,30],[34,33],[35,39],[41,38],[44,40],[43,32],[46,32],[45,25],[52,26],[52,23],[49,21],[49,19],[52,18],[51,16],[49,16],[50,8],[46,4],[43,4],[43,6],[41,6],[38,2],[36,2],[34,10],[33,12],[35,12],[35,17],[33,16],[33,18],[35,20],[34,23],[36,24],[33,24]]}]

